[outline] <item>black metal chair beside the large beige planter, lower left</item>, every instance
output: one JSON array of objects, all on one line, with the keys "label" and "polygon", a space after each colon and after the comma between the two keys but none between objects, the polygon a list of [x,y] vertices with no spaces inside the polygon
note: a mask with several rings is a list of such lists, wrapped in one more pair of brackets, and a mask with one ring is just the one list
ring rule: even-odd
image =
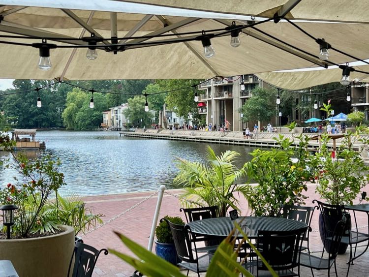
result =
[{"label": "black metal chair beside the large beige planter, lower left", "polygon": [[92,246],[76,242],[72,258],[69,262],[68,276],[70,273],[73,258],[75,258],[72,277],[91,277],[97,258],[102,251],[104,251],[105,255],[109,253],[109,251],[105,248],[97,250]]}]

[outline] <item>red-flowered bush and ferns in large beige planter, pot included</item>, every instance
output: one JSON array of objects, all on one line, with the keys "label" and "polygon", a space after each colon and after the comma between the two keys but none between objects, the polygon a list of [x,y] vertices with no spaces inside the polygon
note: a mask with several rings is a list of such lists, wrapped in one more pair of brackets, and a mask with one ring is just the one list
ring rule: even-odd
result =
[{"label": "red-flowered bush and ferns in large beige planter, pot included", "polygon": [[[4,142],[0,145],[11,151],[12,145],[4,139],[7,135],[0,136]],[[70,205],[71,209],[64,214],[63,199],[55,198],[58,189],[65,185],[58,159],[43,156],[29,160],[21,154],[15,155],[12,151],[11,154],[23,177],[22,180],[14,178],[14,183],[0,189],[1,205],[17,207],[11,239],[5,239],[0,232],[0,259],[11,260],[19,276],[64,277],[74,249],[74,228],[82,230],[88,227],[83,227],[83,223],[88,222],[81,215],[85,210],[74,207],[75,212],[71,213],[73,205]],[[79,222],[82,223],[81,228],[76,224]],[[95,223],[93,220],[90,222]],[[5,226],[2,231],[7,231]]]}]

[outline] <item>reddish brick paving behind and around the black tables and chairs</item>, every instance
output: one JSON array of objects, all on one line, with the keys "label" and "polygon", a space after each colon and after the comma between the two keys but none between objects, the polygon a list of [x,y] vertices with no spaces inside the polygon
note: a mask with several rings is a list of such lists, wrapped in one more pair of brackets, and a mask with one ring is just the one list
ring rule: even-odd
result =
[{"label": "reddish brick paving behind and around the black tables and chairs", "polygon": [[[369,185],[365,188],[365,191],[369,194]],[[172,194],[178,195],[181,193],[180,189],[167,190]],[[132,206],[144,200],[146,197],[151,195],[153,192],[138,192],[138,193],[126,193],[116,195],[103,195],[103,196],[90,196],[83,197],[86,201],[87,206],[92,208],[94,213],[103,213],[105,217],[104,221],[113,218],[116,215],[123,213]],[[315,184],[309,184],[306,192],[308,198],[306,201],[307,206],[312,206],[313,199],[319,199],[319,195],[315,194]],[[138,207],[132,209],[126,214],[120,216],[114,221],[98,228],[94,232],[83,236],[85,243],[92,245],[98,249],[100,248],[113,248],[125,253],[128,250],[123,246],[122,242],[113,233],[118,231],[139,243],[140,245],[147,248],[149,242],[149,236],[151,231],[151,224],[153,221],[155,205],[157,201],[157,194],[148,200],[144,201]],[[355,203],[358,203],[355,202]],[[242,215],[249,215],[250,211],[247,209],[247,203],[241,199]],[[164,194],[159,219],[164,215],[181,216],[184,218],[184,214],[180,213],[180,202],[179,199],[169,194]],[[361,232],[368,232],[368,218],[364,213],[357,213],[358,225]],[[185,221],[185,219],[184,219]],[[310,249],[316,251],[316,255],[321,254],[322,242],[320,240],[318,232],[318,212],[314,213],[312,220],[313,232],[310,234]],[[363,249],[362,247],[359,248]],[[154,251],[154,247],[153,247]],[[339,255],[337,260],[338,276],[346,276],[349,250],[346,254]],[[362,277],[369,276],[369,251],[354,261],[354,265],[350,267],[349,276]],[[133,273],[133,268],[127,265],[122,260],[118,259],[113,254],[104,256],[100,255],[94,273],[92,276],[104,276],[104,277],[128,277]],[[186,271],[184,271],[184,275]],[[334,274],[331,272],[331,274]],[[315,276],[327,276],[327,271],[314,271]],[[190,276],[195,276],[191,275]],[[197,275],[196,275],[197,276]],[[205,276],[203,274],[202,276]],[[311,276],[311,272],[307,268],[301,268],[301,276]]]}]

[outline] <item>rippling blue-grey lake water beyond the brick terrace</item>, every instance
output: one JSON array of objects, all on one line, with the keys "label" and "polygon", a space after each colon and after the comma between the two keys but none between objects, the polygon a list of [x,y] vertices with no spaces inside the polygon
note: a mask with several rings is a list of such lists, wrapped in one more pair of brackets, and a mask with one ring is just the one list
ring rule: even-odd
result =
[{"label": "rippling blue-grey lake water beyond the brick terrace", "polygon": [[[27,151],[29,156],[51,154],[62,161],[65,183],[61,191],[78,195],[101,195],[175,188],[176,157],[206,160],[206,143],[120,137],[113,131],[37,131],[45,151]],[[216,154],[234,150],[241,154],[240,168],[251,158],[253,148],[211,144]],[[2,152],[2,155],[10,155]],[[17,170],[0,166],[0,184],[14,182]]]}]

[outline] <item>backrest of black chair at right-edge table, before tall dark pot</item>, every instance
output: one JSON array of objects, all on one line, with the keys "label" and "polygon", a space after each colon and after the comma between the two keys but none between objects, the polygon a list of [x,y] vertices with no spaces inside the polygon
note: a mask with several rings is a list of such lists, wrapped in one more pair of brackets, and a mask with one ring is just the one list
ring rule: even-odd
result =
[{"label": "backrest of black chair at right-edge table, before tall dark pot", "polygon": [[330,205],[318,200],[313,200],[312,203],[314,202],[316,202],[319,206],[320,213],[323,216],[325,229],[329,237],[332,236],[338,221],[342,220],[343,215],[348,218],[345,224],[343,236],[349,236],[351,232],[351,218],[348,213],[345,213],[343,205]]}]

